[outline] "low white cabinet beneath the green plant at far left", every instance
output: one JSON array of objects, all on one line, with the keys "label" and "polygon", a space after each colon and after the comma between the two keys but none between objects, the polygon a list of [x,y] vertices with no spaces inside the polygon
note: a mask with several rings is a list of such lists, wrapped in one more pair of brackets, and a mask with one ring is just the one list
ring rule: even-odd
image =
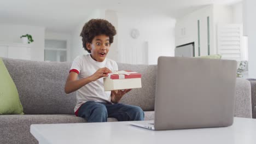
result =
[{"label": "low white cabinet beneath the green plant at far left", "polygon": [[30,60],[30,49],[29,44],[0,43],[0,57]]}]

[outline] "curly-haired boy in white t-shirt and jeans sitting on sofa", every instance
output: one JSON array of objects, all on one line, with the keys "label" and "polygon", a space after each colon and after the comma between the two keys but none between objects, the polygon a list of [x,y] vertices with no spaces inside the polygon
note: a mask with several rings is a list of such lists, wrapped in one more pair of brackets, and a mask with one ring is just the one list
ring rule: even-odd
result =
[{"label": "curly-haired boy in white t-shirt and jeans sitting on sofa", "polygon": [[118,121],[144,119],[140,107],[118,103],[131,89],[104,92],[103,77],[118,70],[117,63],[106,58],[115,34],[115,27],[102,19],[92,19],[85,23],[80,34],[83,47],[90,54],[74,59],[65,92],[77,91],[75,115],[88,122],[107,122],[108,117],[117,118]]}]

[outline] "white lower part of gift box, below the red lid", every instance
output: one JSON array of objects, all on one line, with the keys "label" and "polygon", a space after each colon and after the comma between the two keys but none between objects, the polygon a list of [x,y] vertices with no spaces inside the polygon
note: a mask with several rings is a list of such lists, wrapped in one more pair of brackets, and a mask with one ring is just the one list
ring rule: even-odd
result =
[{"label": "white lower part of gift box, below the red lid", "polygon": [[104,77],[103,82],[105,91],[141,88],[141,78],[112,80],[109,77]]}]

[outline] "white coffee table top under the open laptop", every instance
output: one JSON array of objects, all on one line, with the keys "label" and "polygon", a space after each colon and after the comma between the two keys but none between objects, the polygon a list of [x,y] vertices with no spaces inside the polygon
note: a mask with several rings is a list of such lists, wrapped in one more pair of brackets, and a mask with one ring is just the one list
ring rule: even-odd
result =
[{"label": "white coffee table top under the open laptop", "polygon": [[153,131],[129,122],[32,124],[39,144],[256,143],[256,119],[235,118],[231,127]]}]

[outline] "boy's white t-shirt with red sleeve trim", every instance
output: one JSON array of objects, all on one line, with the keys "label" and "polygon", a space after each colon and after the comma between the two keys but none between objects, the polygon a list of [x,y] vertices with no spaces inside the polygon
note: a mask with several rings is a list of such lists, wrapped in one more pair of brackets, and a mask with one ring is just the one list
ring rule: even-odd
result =
[{"label": "boy's white t-shirt with red sleeve trim", "polygon": [[[70,71],[78,73],[78,79],[83,79],[104,67],[107,67],[111,71],[118,70],[118,65],[115,61],[105,58],[103,62],[97,62],[88,54],[76,57]],[[104,91],[103,77],[92,81],[77,90],[77,105],[75,105],[74,111],[77,111],[86,101],[108,101],[111,103],[110,93],[110,91]]]}]

